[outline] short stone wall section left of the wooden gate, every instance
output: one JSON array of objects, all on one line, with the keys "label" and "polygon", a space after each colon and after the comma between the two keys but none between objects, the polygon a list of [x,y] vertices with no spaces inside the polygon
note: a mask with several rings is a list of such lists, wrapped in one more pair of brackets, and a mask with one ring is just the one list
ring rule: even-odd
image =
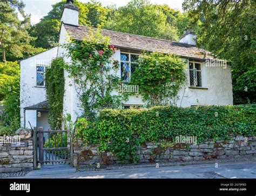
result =
[{"label": "short stone wall section left of the wooden gate", "polygon": [[[15,136],[14,136],[15,137]],[[21,142],[27,141],[28,147],[12,147],[11,143],[0,143],[0,172],[30,171],[34,168],[33,138],[21,137]]]}]

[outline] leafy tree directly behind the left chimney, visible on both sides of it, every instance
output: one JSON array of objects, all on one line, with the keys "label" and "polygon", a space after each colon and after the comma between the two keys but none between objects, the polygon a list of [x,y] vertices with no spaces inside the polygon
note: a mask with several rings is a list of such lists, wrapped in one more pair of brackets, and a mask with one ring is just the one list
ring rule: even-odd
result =
[{"label": "leafy tree directly behind the left chimney, visible on both sides of it", "polygon": [[[37,37],[35,42],[36,47],[50,49],[58,44],[60,19],[66,1],[62,0],[59,3],[52,5],[52,10],[47,16],[44,16],[39,23],[34,25],[30,31],[30,35]],[[74,5],[79,10],[79,24],[86,26],[93,26],[98,28],[102,26],[105,21],[106,8],[102,4],[91,1],[88,3],[81,3],[75,0]]]}]

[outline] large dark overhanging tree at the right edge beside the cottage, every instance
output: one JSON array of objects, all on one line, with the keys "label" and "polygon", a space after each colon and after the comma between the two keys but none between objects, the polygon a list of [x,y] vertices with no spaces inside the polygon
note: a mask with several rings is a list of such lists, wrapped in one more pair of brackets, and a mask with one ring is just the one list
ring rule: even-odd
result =
[{"label": "large dark overhanging tree at the right edge beside the cottage", "polygon": [[185,0],[197,44],[232,62],[234,103],[256,101],[255,1]]}]

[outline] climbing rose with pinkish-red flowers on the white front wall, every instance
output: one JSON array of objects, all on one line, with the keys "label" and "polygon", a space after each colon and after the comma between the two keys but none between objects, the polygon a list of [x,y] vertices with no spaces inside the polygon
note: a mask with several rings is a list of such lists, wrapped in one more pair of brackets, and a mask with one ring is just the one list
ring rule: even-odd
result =
[{"label": "climbing rose with pinkish-red flowers on the white front wall", "polygon": [[99,110],[119,107],[121,96],[111,95],[118,86],[119,64],[111,59],[116,49],[109,45],[109,39],[90,30],[83,42],[73,40],[64,47],[72,58],[65,69],[75,82],[83,115],[93,119]]}]

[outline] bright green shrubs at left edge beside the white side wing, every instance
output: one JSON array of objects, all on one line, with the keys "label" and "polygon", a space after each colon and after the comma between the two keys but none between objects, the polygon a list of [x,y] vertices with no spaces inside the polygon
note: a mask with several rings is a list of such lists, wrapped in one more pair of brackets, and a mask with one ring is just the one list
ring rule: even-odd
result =
[{"label": "bright green shrubs at left edge beside the white side wing", "polygon": [[19,128],[19,73],[17,62],[0,63],[0,100],[4,106],[0,134],[12,134]]}]

